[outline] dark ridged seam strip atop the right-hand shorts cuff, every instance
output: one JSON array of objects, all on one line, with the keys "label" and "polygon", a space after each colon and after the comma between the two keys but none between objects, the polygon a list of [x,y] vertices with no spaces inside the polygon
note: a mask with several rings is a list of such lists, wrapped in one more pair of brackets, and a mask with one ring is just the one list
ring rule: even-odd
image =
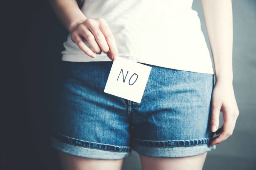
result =
[{"label": "dark ridged seam strip atop the right-hand shorts cuff", "polygon": [[182,147],[182,146],[196,146],[196,145],[207,145],[211,138],[200,138],[190,140],[141,140],[135,138],[135,141],[140,145],[153,146],[153,147]]}]

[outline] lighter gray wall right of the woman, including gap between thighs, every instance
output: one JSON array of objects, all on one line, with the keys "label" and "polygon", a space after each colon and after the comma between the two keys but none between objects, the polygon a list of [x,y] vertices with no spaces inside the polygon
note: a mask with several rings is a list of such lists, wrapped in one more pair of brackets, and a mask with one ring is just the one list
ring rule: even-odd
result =
[{"label": "lighter gray wall right of the woman, including gap between thighs", "polygon": [[[256,169],[256,0],[233,0],[233,87],[239,117],[233,135],[208,152],[203,170]],[[192,8],[198,12],[210,48],[200,0]],[[213,61],[213,60],[212,60]],[[223,124],[222,112],[220,126]],[[140,170],[137,152],[125,158],[123,170]]]}]

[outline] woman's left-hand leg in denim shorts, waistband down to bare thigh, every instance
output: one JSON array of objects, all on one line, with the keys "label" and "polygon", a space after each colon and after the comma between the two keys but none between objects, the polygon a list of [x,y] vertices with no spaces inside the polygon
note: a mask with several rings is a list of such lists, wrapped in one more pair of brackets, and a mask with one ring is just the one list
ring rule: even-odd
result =
[{"label": "woman's left-hand leg in denim shorts, waistband down to bare thigh", "polygon": [[131,156],[125,100],[104,93],[112,62],[62,62],[51,146],[63,170],[121,170]]}]

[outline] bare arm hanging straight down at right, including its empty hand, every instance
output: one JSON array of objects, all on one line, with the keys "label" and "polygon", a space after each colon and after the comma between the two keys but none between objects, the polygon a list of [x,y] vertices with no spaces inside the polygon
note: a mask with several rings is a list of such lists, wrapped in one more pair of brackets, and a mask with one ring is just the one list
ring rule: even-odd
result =
[{"label": "bare arm hanging straight down at right, including its empty hand", "polygon": [[233,14],[231,0],[201,0],[205,25],[208,32],[216,82],[212,91],[212,131],[219,127],[220,111],[223,112],[223,126],[212,141],[216,145],[233,134],[239,110],[233,89],[232,47]]}]

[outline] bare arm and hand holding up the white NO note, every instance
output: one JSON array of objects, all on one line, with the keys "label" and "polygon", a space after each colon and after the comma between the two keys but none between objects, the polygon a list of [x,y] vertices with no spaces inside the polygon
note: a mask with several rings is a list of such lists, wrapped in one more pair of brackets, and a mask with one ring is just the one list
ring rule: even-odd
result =
[{"label": "bare arm and hand holding up the white NO note", "polygon": [[[106,53],[110,60],[118,55],[116,42],[107,22],[103,18],[86,18],[76,0],[48,0],[53,11],[64,27],[70,32],[71,39],[81,50],[92,58],[95,53]],[[84,41],[88,41],[92,51]]]}]

